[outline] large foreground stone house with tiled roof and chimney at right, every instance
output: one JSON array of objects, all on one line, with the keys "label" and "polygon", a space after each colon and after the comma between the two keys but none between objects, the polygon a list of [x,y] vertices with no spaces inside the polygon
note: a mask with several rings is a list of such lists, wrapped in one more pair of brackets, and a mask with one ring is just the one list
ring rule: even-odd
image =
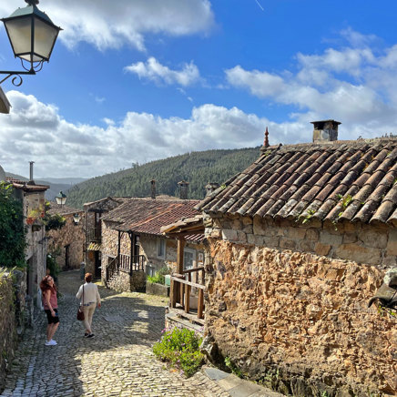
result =
[{"label": "large foreground stone house with tiled roof and chimney at right", "polygon": [[397,262],[397,139],[260,149],[204,213],[206,341],[296,396],[396,395],[396,318],[368,301]]}]

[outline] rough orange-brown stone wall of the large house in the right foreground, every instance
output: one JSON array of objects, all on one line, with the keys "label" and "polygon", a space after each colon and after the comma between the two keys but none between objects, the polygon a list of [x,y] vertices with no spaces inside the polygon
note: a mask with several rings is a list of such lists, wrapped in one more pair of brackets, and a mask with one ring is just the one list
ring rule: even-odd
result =
[{"label": "rough orange-brown stone wall of the large house in the right foreground", "polygon": [[367,304],[396,264],[396,229],[239,216],[206,227],[206,333],[223,357],[296,396],[397,393],[396,320]]}]

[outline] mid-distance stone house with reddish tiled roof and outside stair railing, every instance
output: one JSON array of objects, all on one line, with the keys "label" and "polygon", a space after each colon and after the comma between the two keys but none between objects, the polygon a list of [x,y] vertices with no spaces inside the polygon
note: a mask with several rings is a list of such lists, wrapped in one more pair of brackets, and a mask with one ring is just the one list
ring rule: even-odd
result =
[{"label": "mid-distance stone house with reddish tiled roof and outside stair railing", "polygon": [[[110,211],[102,218],[102,280],[117,290],[137,290],[144,285],[146,275],[166,266],[174,270],[178,241],[164,236],[161,228],[199,214],[194,209],[198,203],[168,197],[131,198]],[[191,235],[187,239],[183,250],[186,269],[203,261],[202,238]]]}]

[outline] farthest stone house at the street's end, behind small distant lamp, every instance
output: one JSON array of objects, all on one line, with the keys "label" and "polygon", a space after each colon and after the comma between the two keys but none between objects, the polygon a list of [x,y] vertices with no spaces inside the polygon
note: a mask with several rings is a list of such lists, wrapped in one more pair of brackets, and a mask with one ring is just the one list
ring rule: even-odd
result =
[{"label": "farthest stone house at the street's end, behind small distant lamp", "polygon": [[75,270],[84,261],[86,233],[85,213],[78,209],[50,203],[46,211],[50,215],[60,215],[66,220],[61,229],[47,230],[48,252],[56,253],[56,263],[61,270]]}]

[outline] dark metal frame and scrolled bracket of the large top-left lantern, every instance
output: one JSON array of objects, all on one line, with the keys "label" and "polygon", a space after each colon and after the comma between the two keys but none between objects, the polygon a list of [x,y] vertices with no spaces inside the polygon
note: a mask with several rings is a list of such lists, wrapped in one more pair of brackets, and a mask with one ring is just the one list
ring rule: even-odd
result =
[{"label": "dark metal frame and scrolled bracket of the large top-left lantern", "polygon": [[[3,78],[0,81],[0,85],[3,84],[5,82],[5,80],[7,80],[9,77],[15,76],[11,80],[12,84],[15,87],[20,87],[22,85],[22,83],[23,83],[23,78],[21,76],[24,76],[24,75],[36,75],[36,73],[39,72],[43,68],[44,62],[49,62],[49,58],[51,57],[51,54],[53,52],[53,49],[54,49],[54,46],[56,44],[56,39],[58,37],[58,34],[62,30],[61,27],[54,25],[54,23],[51,21],[51,19],[48,16],[46,16],[45,13],[41,12],[36,7],[36,5],[38,5],[38,3],[39,3],[39,0],[25,0],[25,3],[27,3],[27,6],[25,8],[27,8],[29,6],[33,7],[33,12],[31,13],[32,19],[33,18],[37,18],[38,20],[40,20],[41,22],[45,23],[46,25],[49,25],[49,26],[55,28],[57,30],[56,36],[54,37],[54,42],[53,42],[53,44],[51,46],[51,50],[49,51],[48,56],[41,56],[41,55],[35,53],[35,24],[33,23],[33,20],[32,20],[32,22],[31,22],[31,35],[30,35],[31,36],[30,37],[30,40],[31,40],[30,51],[27,52],[27,53],[20,53],[20,54],[17,55],[17,54],[15,54],[15,48],[14,48],[13,42],[11,40],[11,37],[10,37],[10,35],[8,33],[8,30],[7,30],[7,28],[5,28],[5,31],[6,31],[7,36],[8,36],[8,40],[10,41],[11,47],[13,48],[14,56],[15,56],[15,58],[16,57],[20,58],[21,65],[22,65],[22,68],[24,70],[20,70],[20,71],[19,70],[18,71],[15,71],[15,70],[1,70],[0,71],[0,75],[7,75],[7,76],[5,76],[5,78]],[[3,21],[3,23],[6,23],[7,21],[16,19],[18,17],[24,17],[24,16],[25,16],[24,14],[16,15],[16,16],[11,15],[11,16],[6,17],[6,18],[1,18],[0,20]],[[25,56],[25,55],[29,55],[29,54],[31,56],[38,56],[38,57],[40,57],[42,59],[40,61],[33,61],[32,58],[31,58],[31,60],[28,61],[28,60],[26,60],[26,59],[21,57],[21,56]],[[26,64],[28,64],[29,66],[26,67],[25,66]]]}]

